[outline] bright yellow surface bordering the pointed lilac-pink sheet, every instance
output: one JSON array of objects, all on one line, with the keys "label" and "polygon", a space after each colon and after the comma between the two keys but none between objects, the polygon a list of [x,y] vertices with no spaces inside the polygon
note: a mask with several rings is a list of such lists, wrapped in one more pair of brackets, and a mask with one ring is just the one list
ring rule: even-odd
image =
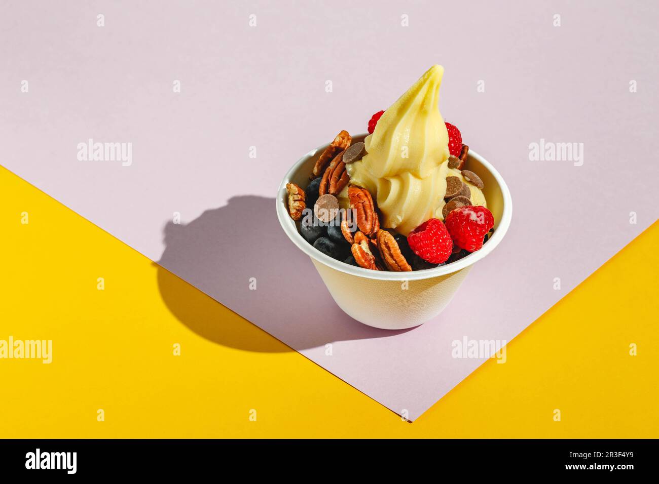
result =
[{"label": "bright yellow surface bordering the pointed lilac-pink sheet", "polygon": [[658,223],[414,423],[161,271],[260,351],[198,336],[152,261],[3,168],[0,227],[0,339],[53,340],[49,365],[0,360],[0,437],[659,437]]}]

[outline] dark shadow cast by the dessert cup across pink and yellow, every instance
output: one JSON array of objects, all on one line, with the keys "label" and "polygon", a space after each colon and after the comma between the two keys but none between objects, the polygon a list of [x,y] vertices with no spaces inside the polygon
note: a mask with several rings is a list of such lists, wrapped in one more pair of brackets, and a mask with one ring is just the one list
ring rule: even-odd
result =
[{"label": "dark shadow cast by the dessert cup across pink and yellow", "polygon": [[186,225],[170,221],[164,232],[160,293],[179,321],[208,340],[258,352],[291,350],[214,300],[296,350],[410,331],[371,328],[343,313],[279,226],[273,198],[237,196]]}]

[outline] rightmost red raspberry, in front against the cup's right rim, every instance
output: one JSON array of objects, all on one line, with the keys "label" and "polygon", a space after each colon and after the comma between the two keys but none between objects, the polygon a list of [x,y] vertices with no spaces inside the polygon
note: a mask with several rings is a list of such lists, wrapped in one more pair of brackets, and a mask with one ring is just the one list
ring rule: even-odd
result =
[{"label": "rightmost red raspberry, in front against the cup's right rim", "polygon": [[446,216],[445,224],[453,244],[475,252],[483,246],[485,234],[494,227],[494,217],[485,207],[465,205],[451,210]]}]

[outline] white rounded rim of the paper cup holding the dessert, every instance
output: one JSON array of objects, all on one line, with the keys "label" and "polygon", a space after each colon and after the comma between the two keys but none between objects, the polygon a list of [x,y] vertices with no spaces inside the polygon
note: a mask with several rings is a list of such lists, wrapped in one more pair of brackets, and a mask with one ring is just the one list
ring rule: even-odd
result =
[{"label": "white rounded rim of the paper cup holding the dessert", "polygon": [[[355,136],[355,138],[359,138],[361,136],[368,136],[368,133],[358,134],[357,136]],[[308,255],[315,261],[318,261],[328,267],[331,267],[331,269],[335,269],[336,271],[350,274],[356,277],[362,277],[364,279],[376,279],[379,281],[420,281],[422,279],[432,279],[434,277],[441,277],[444,275],[455,273],[457,271],[460,271],[461,269],[465,269],[465,267],[469,267],[470,265],[473,265],[474,263],[476,263],[486,255],[490,254],[490,252],[492,252],[494,248],[496,248],[496,246],[499,245],[499,242],[501,242],[503,236],[505,236],[505,233],[508,230],[508,227],[510,226],[510,221],[513,216],[513,200],[510,196],[510,190],[508,190],[508,186],[505,184],[505,181],[503,180],[503,177],[499,174],[499,172],[496,171],[496,169],[492,165],[490,165],[489,161],[487,161],[484,157],[478,155],[478,153],[476,153],[476,151],[473,151],[473,149],[469,148],[469,157],[473,157],[474,159],[478,160],[478,162],[485,169],[487,169],[492,174],[492,176],[494,176],[494,179],[499,184],[499,187],[501,189],[501,195],[503,196],[503,212],[501,213],[501,219],[499,221],[498,227],[496,230],[494,230],[494,234],[492,234],[492,237],[488,238],[488,241],[486,242],[486,244],[483,245],[483,247],[480,250],[477,250],[476,252],[472,252],[471,254],[466,255],[465,257],[459,259],[458,261],[451,262],[450,264],[442,265],[434,269],[424,269],[422,271],[407,271],[407,272],[372,271],[371,269],[364,269],[363,267],[349,265],[343,261],[333,259],[333,257],[329,257],[329,255],[323,254],[322,252],[320,252],[320,250],[314,248],[314,246],[312,246],[311,244],[306,242],[304,238],[302,238],[302,235],[300,234],[299,230],[297,230],[297,224],[295,224],[295,222],[293,224],[289,223],[292,222],[292,219],[288,213],[286,203],[281,203],[282,200],[285,201],[287,199],[286,184],[289,181],[291,181],[291,178],[295,173],[297,173],[302,163],[307,161],[309,157],[312,157],[313,155],[318,153],[319,150],[324,150],[328,146],[329,143],[319,146],[318,148],[312,149],[311,151],[306,153],[306,155],[302,156],[298,161],[296,161],[293,164],[291,169],[289,169],[286,175],[284,175],[283,179],[281,180],[281,184],[279,184],[279,190],[277,191],[276,202],[277,202],[277,219],[279,219],[279,225],[281,225],[281,228],[291,239],[291,241],[293,241],[293,243],[300,250],[302,250],[304,254]]]}]

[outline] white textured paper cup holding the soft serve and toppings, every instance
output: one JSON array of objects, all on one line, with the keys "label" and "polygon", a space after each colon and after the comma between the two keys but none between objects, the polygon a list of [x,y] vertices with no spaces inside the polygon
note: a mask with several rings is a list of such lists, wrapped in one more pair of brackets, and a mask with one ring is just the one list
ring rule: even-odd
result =
[{"label": "white textured paper cup holding the soft serve and toppings", "polygon": [[[356,136],[361,141],[366,134]],[[302,238],[287,208],[286,184],[307,186],[316,159],[328,145],[309,151],[284,176],[277,193],[277,217],[293,243],[311,257],[329,294],[343,311],[368,326],[405,329],[442,312],[472,265],[490,254],[508,230],[513,212],[510,192],[501,175],[478,153],[469,150],[469,169],[483,180],[488,209],[494,215],[494,234],[483,248],[436,269],[413,272],[370,271],[337,261]]]}]

